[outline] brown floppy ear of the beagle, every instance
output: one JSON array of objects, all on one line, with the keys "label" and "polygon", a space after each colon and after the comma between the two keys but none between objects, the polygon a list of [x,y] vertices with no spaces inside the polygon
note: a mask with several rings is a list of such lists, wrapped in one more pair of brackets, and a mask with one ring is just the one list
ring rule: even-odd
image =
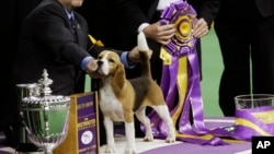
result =
[{"label": "brown floppy ear of the beagle", "polygon": [[125,74],[125,69],[122,63],[117,64],[117,70],[113,76],[113,91],[114,92],[119,92],[122,88],[125,86],[126,82],[126,74]]}]

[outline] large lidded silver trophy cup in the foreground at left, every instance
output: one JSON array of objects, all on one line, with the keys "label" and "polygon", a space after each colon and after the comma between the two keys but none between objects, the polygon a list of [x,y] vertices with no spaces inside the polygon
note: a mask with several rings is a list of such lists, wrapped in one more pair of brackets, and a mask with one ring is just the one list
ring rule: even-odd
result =
[{"label": "large lidded silver trophy cup in the foreground at left", "polygon": [[22,111],[28,140],[46,154],[52,154],[67,137],[70,98],[50,95],[53,83],[44,70],[38,81],[39,95],[22,99]]}]

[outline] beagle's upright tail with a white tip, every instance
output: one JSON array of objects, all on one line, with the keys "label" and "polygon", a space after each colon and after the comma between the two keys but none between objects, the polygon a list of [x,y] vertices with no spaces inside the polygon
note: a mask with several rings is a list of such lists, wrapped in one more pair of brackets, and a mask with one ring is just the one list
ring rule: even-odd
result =
[{"label": "beagle's upright tail with a white tip", "polygon": [[148,75],[151,78],[149,48],[146,36],[142,32],[138,35],[138,50],[140,51],[141,75]]}]

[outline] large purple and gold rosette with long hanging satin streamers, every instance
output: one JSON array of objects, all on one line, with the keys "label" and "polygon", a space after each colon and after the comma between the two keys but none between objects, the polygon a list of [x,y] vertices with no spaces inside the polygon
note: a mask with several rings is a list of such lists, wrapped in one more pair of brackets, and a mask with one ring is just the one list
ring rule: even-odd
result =
[{"label": "large purple and gold rosette with long hanging satin streamers", "polygon": [[[228,131],[208,130],[204,123],[196,38],[192,28],[196,22],[195,10],[187,1],[178,1],[162,12],[161,19],[162,25],[174,24],[176,28],[171,43],[163,46],[160,54],[163,60],[161,88],[176,129],[176,139],[196,144],[227,144],[213,133],[228,135]],[[153,135],[164,139],[165,123],[156,111],[148,117]]]}]

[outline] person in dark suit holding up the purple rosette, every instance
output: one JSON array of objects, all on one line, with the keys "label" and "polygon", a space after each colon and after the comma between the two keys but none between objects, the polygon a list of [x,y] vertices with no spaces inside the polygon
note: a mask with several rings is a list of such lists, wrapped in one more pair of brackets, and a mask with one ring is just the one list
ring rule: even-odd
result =
[{"label": "person in dark suit holding up the purple rosette", "polygon": [[[104,45],[115,48],[128,49],[135,46],[140,26],[146,23],[146,27],[141,29],[146,34],[149,48],[153,51],[150,59],[151,74],[160,84],[162,76],[160,47],[170,42],[175,31],[172,25],[160,25],[159,20],[163,8],[157,9],[159,2],[159,0],[93,0],[85,1],[79,12],[87,19],[90,29],[94,31],[92,34]],[[201,38],[208,33],[218,12],[219,2],[218,0],[189,0],[189,2],[197,12],[198,23],[194,27],[194,35]],[[196,48],[201,54],[199,42]],[[126,69],[128,79],[139,76],[140,72],[139,66],[135,69]],[[136,134],[141,134],[138,121],[135,126]]]}]

